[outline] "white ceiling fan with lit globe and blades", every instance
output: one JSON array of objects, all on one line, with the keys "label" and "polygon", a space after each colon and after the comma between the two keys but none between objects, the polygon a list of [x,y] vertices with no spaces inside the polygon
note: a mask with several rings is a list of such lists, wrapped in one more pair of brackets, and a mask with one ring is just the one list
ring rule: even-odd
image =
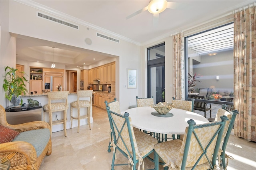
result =
[{"label": "white ceiling fan with lit globe and blades", "polygon": [[180,7],[180,3],[176,2],[167,2],[167,0],[150,0],[148,6],[142,8],[141,10],[138,10],[134,12],[133,14],[129,15],[126,17],[126,20],[148,10],[148,12],[153,14],[153,25],[158,24],[158,18],[159,18],[159,13],[163,12],[166,10],[166,8],[170,9],[176,9]]}]

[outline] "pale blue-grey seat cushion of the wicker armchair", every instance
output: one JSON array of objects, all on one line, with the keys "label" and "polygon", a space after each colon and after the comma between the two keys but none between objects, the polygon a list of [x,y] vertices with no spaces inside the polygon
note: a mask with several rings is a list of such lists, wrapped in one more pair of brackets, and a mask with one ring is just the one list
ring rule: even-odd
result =
[{"label": "pale blue-grey seat cushion of the wicker armchair", "polygon": [[21,132],[14,141],[28,142],[36,149],[36,156],[40,156],[48,141],[50,140],[50,130],[48,128],[28,130]]}]

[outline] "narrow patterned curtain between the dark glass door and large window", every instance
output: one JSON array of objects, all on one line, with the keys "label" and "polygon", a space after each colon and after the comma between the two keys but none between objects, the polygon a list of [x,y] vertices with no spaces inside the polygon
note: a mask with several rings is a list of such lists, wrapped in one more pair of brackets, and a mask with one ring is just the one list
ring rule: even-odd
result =
[{"label": "narrow patterned curtain between the dark glass door and large window", "polygon": [[184,67],[184,36],[179,33],[173,36],[174,53],[174,97],[185,100],[185,67]]}]

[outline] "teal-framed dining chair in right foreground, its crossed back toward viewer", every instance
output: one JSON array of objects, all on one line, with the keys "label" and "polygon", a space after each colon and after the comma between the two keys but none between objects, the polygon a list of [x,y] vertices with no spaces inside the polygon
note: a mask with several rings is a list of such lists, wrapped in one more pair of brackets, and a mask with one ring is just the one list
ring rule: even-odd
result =
[{"label": "teal-framed dining chair in right foreground, its crossed back toward viewer", "polygon": [[201,125],[196,125],[190,119],[183,141],[177,139],[156,144],[154,147],[156,170],[159,169],[158,156],[163,160],[164,167],[169,166],[169,169],[213,169],[216,167],[218,148],[225,121],[228,118],[222,116],[221,119],[222,121]]}]

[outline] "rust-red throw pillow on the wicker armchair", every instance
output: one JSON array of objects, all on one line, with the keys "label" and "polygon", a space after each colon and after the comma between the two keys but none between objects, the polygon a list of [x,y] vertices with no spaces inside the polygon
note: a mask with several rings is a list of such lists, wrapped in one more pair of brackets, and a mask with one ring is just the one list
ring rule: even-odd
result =
[{"label": "rust-red throw pillow on the wicker armchair", "polygon": [[0,143],[12,142],[20,132],[0,125]]}]

